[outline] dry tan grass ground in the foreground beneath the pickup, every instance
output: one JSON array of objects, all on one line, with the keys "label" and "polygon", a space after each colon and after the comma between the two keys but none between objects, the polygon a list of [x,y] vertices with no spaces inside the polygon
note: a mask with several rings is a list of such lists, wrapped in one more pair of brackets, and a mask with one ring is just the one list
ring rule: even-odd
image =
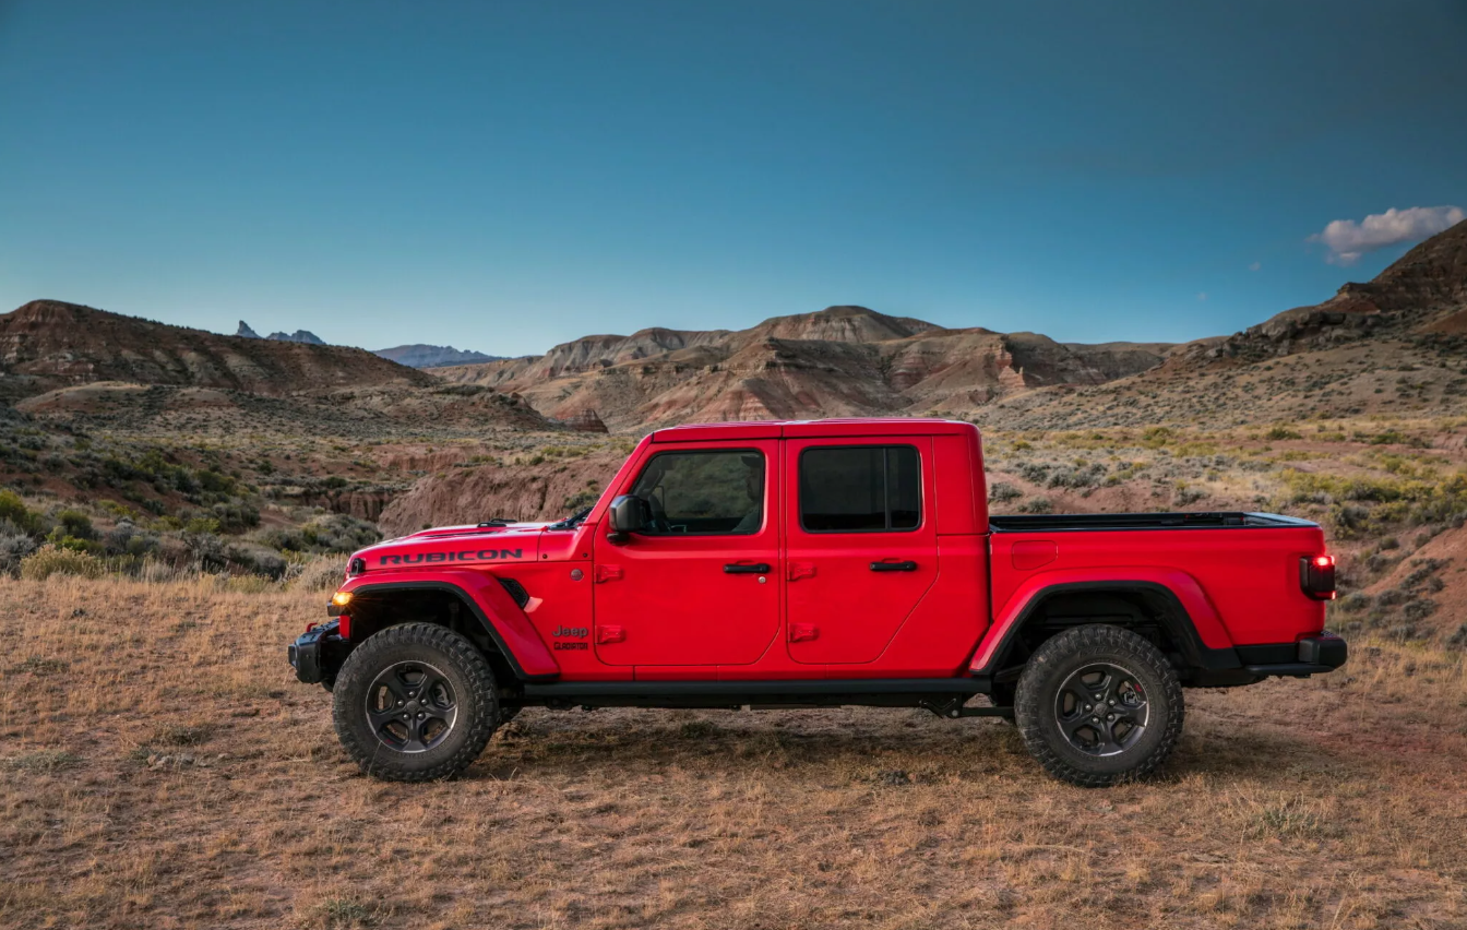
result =
[{"label": "dry tan grass ground in the foreground beneath the pickup", "polygon": [[0,927],[1467,926],[1467,678],[1424,642],[1191,691],[1109,791],[915,710],[533,709],[403,786],[285,663],[321,598],[0,579]]}]

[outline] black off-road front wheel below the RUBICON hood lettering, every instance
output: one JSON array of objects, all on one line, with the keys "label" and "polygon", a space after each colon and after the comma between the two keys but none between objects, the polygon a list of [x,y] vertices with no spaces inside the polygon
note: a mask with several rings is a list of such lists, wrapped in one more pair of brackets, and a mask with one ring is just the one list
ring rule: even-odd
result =
[{"label": "black off-road front wheel below the RUBICON hood lettering", "polygon": [[[412,681],[428,682],[428,688],[420,686],[420,695],[411,691]],[[427,703],[430,689],[433,704]],[[364,773],[390,782],[430,782],[461,773],[500,725],[489,662],[462,635],[434,623],[389,626],[370,637],[346,657],[332,695],[342,747]],[[411,707],[392,707],[392,697]],[[368,711],[368,701],[384,707]],[[442,725],[436,735],[420,735],[411,729],[415,720],[399,723],[400,714],[392,713],[405,710],[411,711],[408,717],[417,717],[420,709],[428,725]]]}]

